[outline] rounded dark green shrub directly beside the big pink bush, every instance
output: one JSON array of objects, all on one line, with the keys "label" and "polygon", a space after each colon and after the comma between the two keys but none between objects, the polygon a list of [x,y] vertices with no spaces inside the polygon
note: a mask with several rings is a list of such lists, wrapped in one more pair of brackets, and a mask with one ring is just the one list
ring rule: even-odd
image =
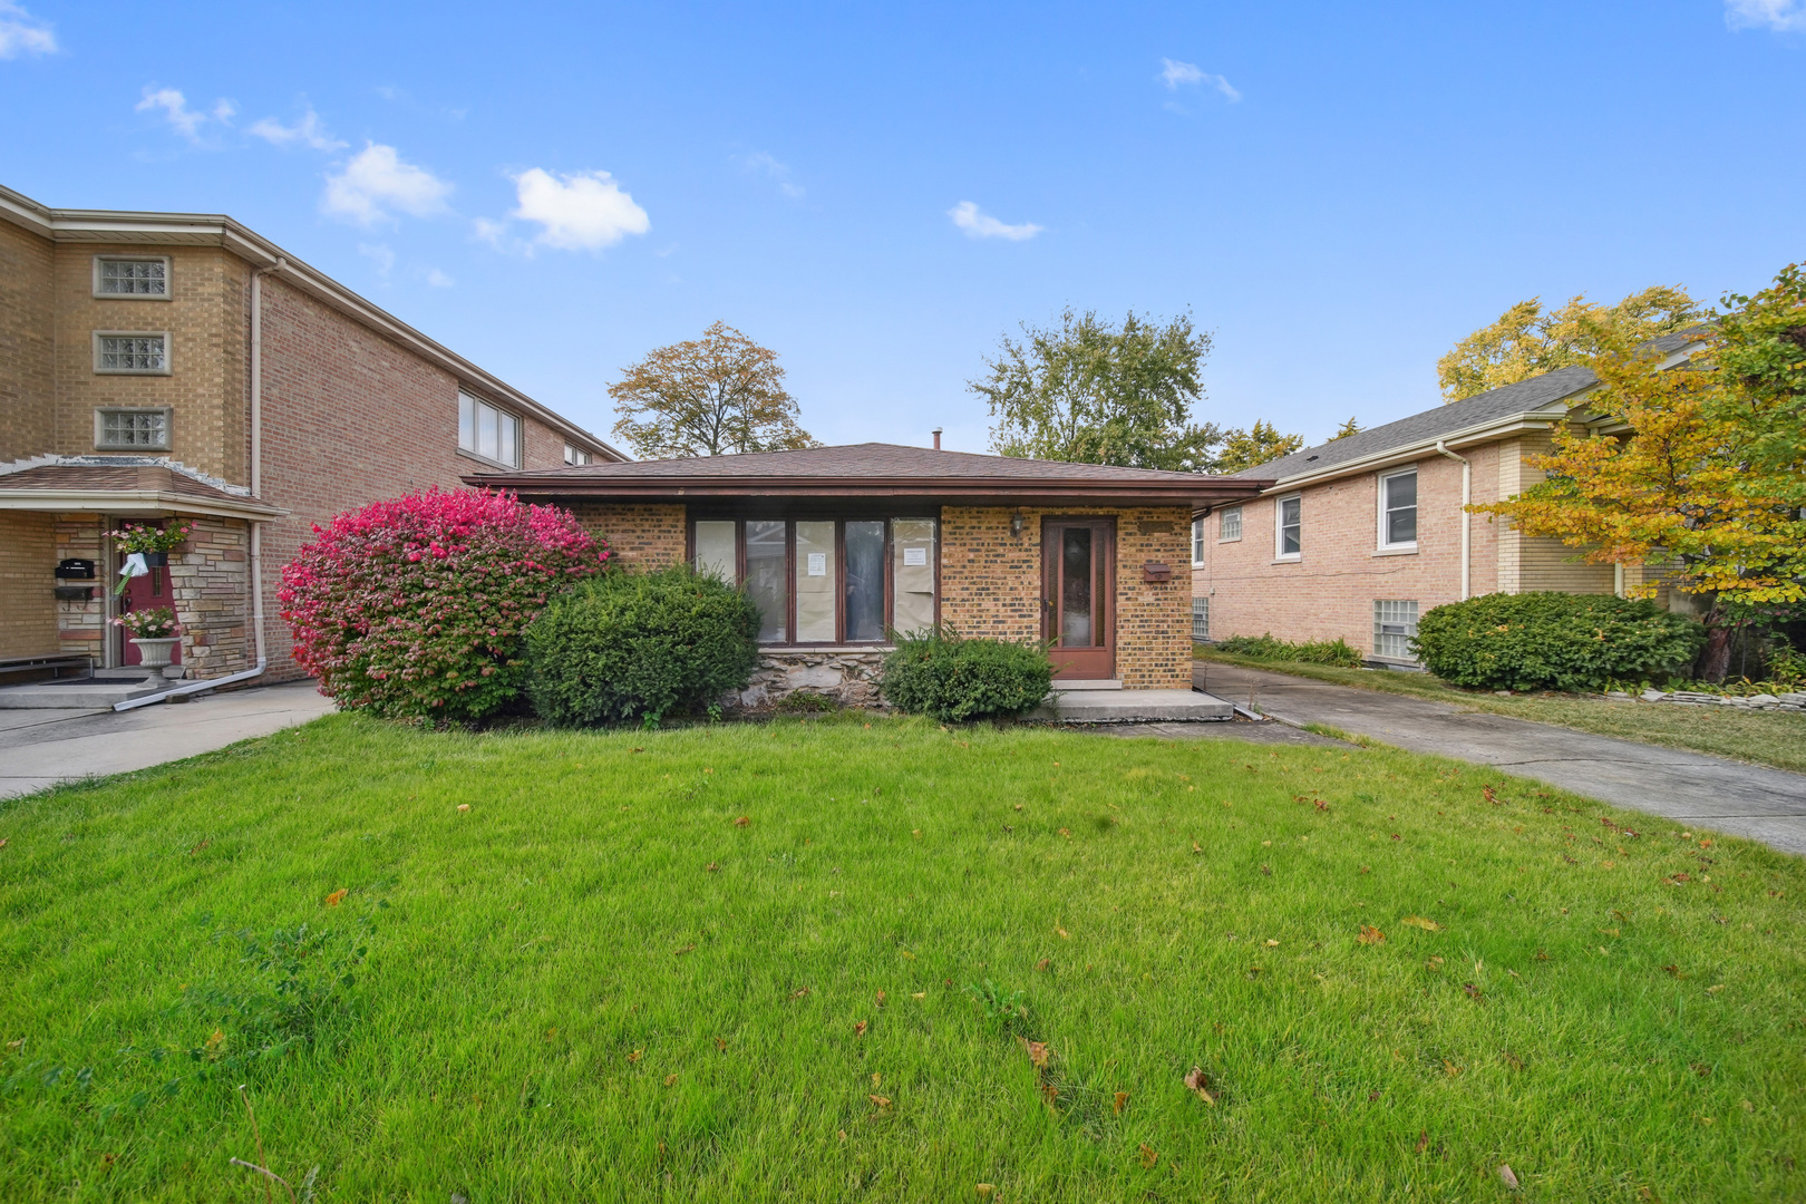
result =
[{"label": "rounded dark green shrub directly beside the big pink bush", "polygon": [[527,695],[562,727],[657,724],[744,690],[759,607],[688,565],[609,572],[553,599],[527,628]]}]

